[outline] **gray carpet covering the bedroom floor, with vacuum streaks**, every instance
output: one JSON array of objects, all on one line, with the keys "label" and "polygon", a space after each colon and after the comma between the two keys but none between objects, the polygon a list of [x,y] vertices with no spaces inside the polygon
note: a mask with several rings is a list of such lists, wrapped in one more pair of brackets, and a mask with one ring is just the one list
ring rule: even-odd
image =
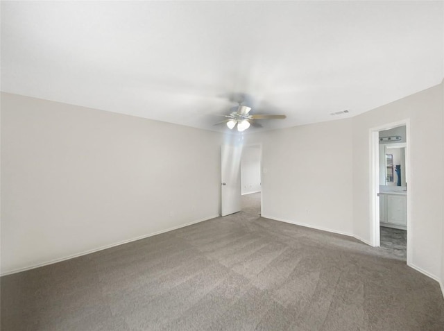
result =
[{"label": "gray carpet covering the bedroom floor, with vacuum streaks", "polygon": [[444,330],[397,255],[243,207],[1,278],[1,330]]}]

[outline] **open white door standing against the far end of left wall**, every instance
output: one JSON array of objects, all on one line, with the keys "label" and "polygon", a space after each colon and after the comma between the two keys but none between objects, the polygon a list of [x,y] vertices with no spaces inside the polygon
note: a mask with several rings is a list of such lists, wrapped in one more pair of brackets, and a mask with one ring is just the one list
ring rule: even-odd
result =
[{"label": "open white door standing against the far end of left wall", "polygon": [[222,145],[222,216],[240,212],[241,210],[241,155],[241,147]]}]

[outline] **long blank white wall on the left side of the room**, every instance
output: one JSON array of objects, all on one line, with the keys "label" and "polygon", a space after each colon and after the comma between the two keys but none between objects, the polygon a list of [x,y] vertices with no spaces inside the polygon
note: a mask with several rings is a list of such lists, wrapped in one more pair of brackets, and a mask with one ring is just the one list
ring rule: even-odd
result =
[{"label": "long blank white wall on the left side of the room", "polygon": [[1,273],[210,219],[222,135],[1,94]]}]

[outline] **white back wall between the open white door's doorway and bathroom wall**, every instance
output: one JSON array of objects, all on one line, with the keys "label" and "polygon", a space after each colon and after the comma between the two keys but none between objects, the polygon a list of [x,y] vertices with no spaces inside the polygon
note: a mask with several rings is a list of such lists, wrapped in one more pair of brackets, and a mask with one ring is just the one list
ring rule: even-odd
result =
[{"label": "white back wall between the open white door's doorway and bathroom wall", "polygon": [[352,234],[352,120],[247,136],[262,142],[262,214]]}]

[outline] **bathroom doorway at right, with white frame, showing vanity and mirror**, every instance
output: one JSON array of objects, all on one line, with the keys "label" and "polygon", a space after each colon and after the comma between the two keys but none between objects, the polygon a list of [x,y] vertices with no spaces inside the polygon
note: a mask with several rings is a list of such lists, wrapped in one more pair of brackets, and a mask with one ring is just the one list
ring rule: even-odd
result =
[{"label": "bathroom doorway at right, with white frame, showing vanity and mirror", "polygon": [[[370,130],[372,151],[372,246],[410,262],[409,120]],[[407,189],[409,187],[409,189]]]}]

